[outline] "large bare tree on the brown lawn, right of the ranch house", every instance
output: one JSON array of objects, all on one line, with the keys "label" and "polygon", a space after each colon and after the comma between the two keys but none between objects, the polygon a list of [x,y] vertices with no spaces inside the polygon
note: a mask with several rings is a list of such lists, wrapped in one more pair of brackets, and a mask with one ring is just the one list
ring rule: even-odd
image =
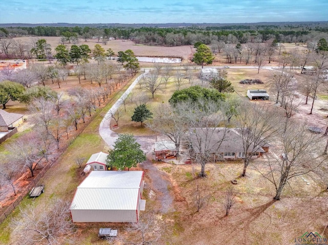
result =
[{"label": "large bare tree on the brown lawn, right of the ranch house", "polygon": [[326,158],[320,157],[318,152],[319,136],[308,130],[308,125],[297,123],[286,118],[279,124],[277,140],[282,149],[282,157],[268,156],[263,162],[264,167],[253,167],[268,179],[276,189],[274,199],[279,200],[283,188],[296,176],[315,171]]}]

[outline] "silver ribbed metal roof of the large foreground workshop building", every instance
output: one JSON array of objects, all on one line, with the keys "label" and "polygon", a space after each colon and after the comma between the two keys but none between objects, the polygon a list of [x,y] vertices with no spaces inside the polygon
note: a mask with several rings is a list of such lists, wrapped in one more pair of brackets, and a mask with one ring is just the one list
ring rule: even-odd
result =
[{"label": "silver ribbed metal roof of the large foreground workshop building", "polygon": [[77,187],[70,209],[136,210],[143,171],[92,171]]}]

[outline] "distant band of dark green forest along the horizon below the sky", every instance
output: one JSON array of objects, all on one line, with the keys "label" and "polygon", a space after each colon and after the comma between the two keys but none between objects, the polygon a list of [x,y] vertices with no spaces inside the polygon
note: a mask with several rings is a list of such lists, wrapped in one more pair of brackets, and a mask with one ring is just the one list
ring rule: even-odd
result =
[{"label": "distant band of dark green forest along the horizon below the sky", "polygon": [[319,35],[328,33],[328,27],[324,25],[228,25],[228,26],[190,26],[183,28],[159,28],[159,27],[8,27],[0,28],[1,36],[58,36],[62,37],[72,33],[77,37],[98,41],[115,39],[132,39],[136,43],[150,45],[181,46],[194,44],[200,41],[210,44],[213,41],[225,43],[265,42],[275,39],[278,42],[306,42]]}]

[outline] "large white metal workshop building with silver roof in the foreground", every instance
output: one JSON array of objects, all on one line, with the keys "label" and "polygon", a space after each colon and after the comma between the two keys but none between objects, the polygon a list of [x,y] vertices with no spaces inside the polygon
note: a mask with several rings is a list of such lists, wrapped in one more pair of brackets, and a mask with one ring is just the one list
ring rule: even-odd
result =
[{"label": "large white metal workshop building with silver roof in the foreground", "polygon": [[73,197],[73,222],[138,222],[144,183],[144,171],[90,172]]}]

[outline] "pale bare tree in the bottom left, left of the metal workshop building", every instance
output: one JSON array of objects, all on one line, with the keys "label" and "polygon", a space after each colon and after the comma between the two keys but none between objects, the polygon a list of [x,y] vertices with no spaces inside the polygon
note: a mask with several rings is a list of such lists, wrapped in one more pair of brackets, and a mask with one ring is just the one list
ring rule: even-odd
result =
[{"label": "pale bare tree in the bottom left, left of the metal workshop building", "polygon": [[69,212],[69,202],[54,199],[50,205],[44,203],[19,208],[18,217],[13,218],[13,228],[20,244],[66,244],[71,243],[70,236],[75,226]]}]

